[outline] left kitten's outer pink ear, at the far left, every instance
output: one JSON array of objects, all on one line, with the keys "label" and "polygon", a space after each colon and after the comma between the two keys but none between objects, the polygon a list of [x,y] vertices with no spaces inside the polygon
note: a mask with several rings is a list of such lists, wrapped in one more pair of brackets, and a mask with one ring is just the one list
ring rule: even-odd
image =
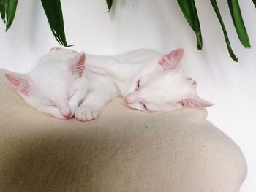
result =
[{"label": "left kitten's outer pink ear, at the far left", "polygon": [[17,89],[18,93],[23,96],[29,96],[31,92],[31,81],[29,78],[24,77],[21,74],[5,73],[5,77],[9,80],[12,85]]}]

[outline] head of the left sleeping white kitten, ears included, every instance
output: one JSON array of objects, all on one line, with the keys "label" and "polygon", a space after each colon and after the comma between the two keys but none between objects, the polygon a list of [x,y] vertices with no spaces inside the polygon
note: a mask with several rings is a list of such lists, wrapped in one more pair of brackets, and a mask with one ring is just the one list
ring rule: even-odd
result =
[{"label": "head of the left sleeping white kitten, ears included", "polygon": [[84,53],[52,49],[29,74],[5,76],[31,107],[56,118],[72,118],[86,94],[85,59]]}]

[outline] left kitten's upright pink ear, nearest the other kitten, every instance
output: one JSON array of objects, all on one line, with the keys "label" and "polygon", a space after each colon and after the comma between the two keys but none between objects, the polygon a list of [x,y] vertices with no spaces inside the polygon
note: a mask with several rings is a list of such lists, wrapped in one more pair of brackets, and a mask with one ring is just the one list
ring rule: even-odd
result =
[{"label": "left kitten's upright pink ear, nearest the other kitten", "polygon": [[76,77],[82,77],[85,72],[86,54],[78,53],[74,58],[70,58],[68,63],[69,72]]}]

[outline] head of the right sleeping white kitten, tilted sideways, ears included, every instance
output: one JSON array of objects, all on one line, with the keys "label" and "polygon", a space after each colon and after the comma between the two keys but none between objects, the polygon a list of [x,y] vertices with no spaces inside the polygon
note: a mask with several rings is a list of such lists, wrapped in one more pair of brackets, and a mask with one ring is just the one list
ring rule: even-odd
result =
[{"label": "head of the right sleeping white kitten, tilted sideways, ears included", "polygon": [[210,107],[211,103],[197,96],[195,81],[177,72],[183,55],[184,50],[173,50],[148,64],[148,69],[132,82],[124,99],[126,104],[147,112]]}]

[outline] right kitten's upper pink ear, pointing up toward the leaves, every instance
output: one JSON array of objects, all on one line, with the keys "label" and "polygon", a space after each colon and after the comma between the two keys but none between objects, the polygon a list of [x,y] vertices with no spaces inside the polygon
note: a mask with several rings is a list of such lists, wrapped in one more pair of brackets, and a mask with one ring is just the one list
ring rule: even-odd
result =
[{"label": "right kitten's upper pink ear, pointing up toward the leaves", "polygon": [[173,50],[160,58],[158,64],[162,66],[165,71],[176,72],[181,65],[181,58],[183,55],[183,49]]}]

